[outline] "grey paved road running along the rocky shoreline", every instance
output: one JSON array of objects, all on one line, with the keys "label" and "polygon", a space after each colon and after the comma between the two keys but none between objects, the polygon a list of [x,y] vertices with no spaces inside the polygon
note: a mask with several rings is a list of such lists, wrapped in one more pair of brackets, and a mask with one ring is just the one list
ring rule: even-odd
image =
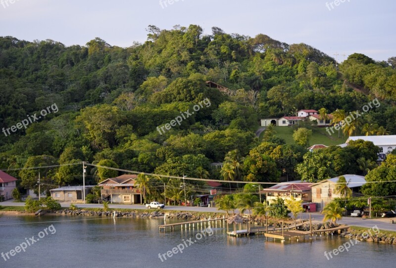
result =
[{"label": "grey paved road running along the rocky shoreline", "polygon": [[[70,206],[70,203],[64,202],[61,203],[62,207],[67,208]],[[102,204],[75,204],[80,208],[103,208]],[[25,206],[25,203],[20,202],[1,202],[0,206]],[[146,209],[144,205],[119,205],[119,204],[109,204],[110,209]],[[164,210],[175,210],[175,211],[192,211],[192,212],[225,212],[222,210],[217,210],[217,208],[208,208],[208,207],[180,207],[180,206],[166,206]],[[236,210],[238,213],[238,210]],[[313,221],[315,223],[322,222],[323,215],[320,213],[311,213]],[[309,215],[306,213],[302,214],[303,219],[309,219]],[[396,222],[396,218],[393,218]],[[354,217],[344,217],[341,221],[337,223],[355,225],[361,227],[372,228],[377,225],[378,228],[382,230],[390,230],[396,231],[396,223],[391,223],[392,218],[380,218],[380,219],[362,219],[362,218],[354,218]]]}]

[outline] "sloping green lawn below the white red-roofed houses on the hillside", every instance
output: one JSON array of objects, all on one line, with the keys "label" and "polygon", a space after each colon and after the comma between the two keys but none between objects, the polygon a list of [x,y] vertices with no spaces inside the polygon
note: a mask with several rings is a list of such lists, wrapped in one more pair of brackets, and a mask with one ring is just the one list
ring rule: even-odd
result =
[{"label": "sloping green lawn below the white red-roofed houses on the hillside", "polygon": [[[293,128],[292,127],[274,127],[274,130],[276,131],[276,136],[283,138],[286,143],[294,144],[293,140]],[[325,135],[326,134],[326,135]],[[312,130],[312,136],[309,139],[309,146],[314,145],[314,144],[324,144],[326,146],[330,145],[338,145],[341,143],[344,143],[347,140],[347,136],[343,138],[342,134],[340,135],[341,137],[338,138],[338,133],[335,132],[334,134],[331,135],[333,139],[330,139],[330,137],[327,136],[326,128],[318,128],[315,127]],[[260,139],[262,139],[264,135],[264,132],[260,134]]]}]

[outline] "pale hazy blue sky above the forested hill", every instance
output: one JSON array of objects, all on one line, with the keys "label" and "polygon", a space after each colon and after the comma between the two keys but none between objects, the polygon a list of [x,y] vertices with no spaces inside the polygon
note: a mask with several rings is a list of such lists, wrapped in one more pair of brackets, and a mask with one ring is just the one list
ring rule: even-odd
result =
[{"label": "pale hazy blue sky above the forested hill", "polygon": [[0,0],[0,36],[128,47],[146,41],[148,25],[196,24],[381,61],[396,56],[395,17],[395,0]]}]

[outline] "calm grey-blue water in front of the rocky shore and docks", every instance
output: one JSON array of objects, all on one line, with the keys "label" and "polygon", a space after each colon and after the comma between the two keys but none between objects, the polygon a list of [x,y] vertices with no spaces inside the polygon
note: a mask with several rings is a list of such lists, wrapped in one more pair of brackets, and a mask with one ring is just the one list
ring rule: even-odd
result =
[{"label": "calm grey-blue water in front of the rocky shore and docks", "polygon": [[[395,267],[396,246],[366,242],[358,243],[348,252],[327,260],[325,251],[329,252],[348,241],[337,236],[283,244],[265,242],[262,235],[228,237],[223,229],[212,226],[211,236],[206,234],[197,240],[196,237],[200,237],[196,236],[197,229],[159,233],[157,225],[163,223],[163,219],[93,219],[69,216],[1,217],[0,253],[15,250],[19,244],[26,243],[25,238],[29,243],[32,236],[34,240],[39,236],[42,238],[27,246],[26,252],[9,255],[9,260],[5,257],[7,261],[0,257],[0,268]],[[45,228],[48,228],[48,234]],[[159,253],[166,254],[190,238],[197,242],[186,247],[183,253],[178,252],[170,258],[165,255],[167,260],[164,262],[158,258]],[[189,245],[189,242],[186,244]]]}]

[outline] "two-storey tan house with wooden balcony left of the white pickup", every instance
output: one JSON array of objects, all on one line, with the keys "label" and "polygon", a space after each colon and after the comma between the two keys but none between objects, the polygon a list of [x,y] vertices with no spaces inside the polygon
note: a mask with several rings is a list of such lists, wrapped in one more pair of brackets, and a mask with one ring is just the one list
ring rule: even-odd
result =
[{"label": "two-storey tan house with wooden balcony left of the white pickup", "polygon": [[135,188],[137,175],[121,175],[116,178],[105,179],[98,184],[102,187],[100,195],[111,203],[142,204],[142,194]]}]

